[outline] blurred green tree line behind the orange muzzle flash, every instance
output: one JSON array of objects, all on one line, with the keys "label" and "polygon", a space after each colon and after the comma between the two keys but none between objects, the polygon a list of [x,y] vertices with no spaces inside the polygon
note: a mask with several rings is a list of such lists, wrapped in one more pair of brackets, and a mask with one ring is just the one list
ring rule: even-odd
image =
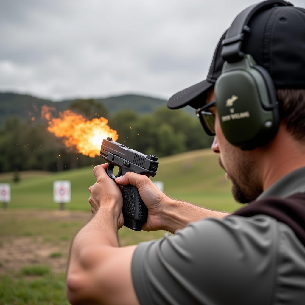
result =
[{"label": "blurred green tree line behind the orange muzzle flash", "polygon": [[[144,154],[169,156],[210,147],[213,140],[205,135],[195,115],[191,117],[183,110],[164,107],[149,115],[124,110],[109,117],[105,107],[92,99],[74,102],[69,108],[88,119],[102,113],[109,126],[117,130],[119,143]],[[6,119],[0,127],[0,172],[60,171],[103,162],[100,157],[90,158],[66,149],[62,139],[48,132],[47,126],[42,120]]]}]

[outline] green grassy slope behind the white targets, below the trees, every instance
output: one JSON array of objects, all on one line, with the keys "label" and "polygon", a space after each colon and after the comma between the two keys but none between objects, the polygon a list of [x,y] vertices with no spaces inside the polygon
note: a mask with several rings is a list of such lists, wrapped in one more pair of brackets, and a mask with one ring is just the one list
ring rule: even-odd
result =
[{"label": "green grassy slope behind the white targets, below the trees", "polygon": [[[218,156],[210,150],[196,150],[161,158],[153,180],[164,183],[165,193],[212,209],[232,211],[239,207],[232,199],[230,182],[218,165]],[[0,174],[0,183],[11,184],[9,208],[58,209],[53,202],[53,181],[71,181],[71,202],[68,210],[89,211],[88,188],[95,182],[92,167],[60,173],[21,173],[21,181],[12,182],[12,174]]]}]

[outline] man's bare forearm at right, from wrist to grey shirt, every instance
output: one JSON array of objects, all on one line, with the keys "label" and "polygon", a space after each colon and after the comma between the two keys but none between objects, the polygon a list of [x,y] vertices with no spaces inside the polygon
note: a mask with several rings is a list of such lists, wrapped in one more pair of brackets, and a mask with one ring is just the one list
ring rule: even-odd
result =
[{"label": "man's bare forearm at right, from wrist to grey shirt", "polygon": [[207,217],[222,218],[228,213],[213,211],[192,203],[169,199],[162,211],[161,226],[163,230],[174,233],[194,221]]}]

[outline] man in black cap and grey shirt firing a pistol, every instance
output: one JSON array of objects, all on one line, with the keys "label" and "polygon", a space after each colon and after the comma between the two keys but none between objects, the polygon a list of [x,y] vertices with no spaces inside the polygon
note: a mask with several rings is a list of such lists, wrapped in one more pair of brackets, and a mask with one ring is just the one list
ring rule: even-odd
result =
[{"label": "man in black cap and grey shirt firing a pistol", "polygon": [[[70,303],[304,304],[304,71],[305,9],[268,0],[239,14],[217,45],[207,79],[173,95],[168,106],[198,109],[204,129],[215,134],[212,149],[234,197],[251,203],[232,215],[206,210],[127,173],[116,182],[137,186],[149,213],[143,229],[175,235],[119,247],[120,188],[106,164],[95,167],[93,217],[71,247]],[[228,85],[240,75],[239,86]],[[231,87],[240,94],[223,98]]]}]

